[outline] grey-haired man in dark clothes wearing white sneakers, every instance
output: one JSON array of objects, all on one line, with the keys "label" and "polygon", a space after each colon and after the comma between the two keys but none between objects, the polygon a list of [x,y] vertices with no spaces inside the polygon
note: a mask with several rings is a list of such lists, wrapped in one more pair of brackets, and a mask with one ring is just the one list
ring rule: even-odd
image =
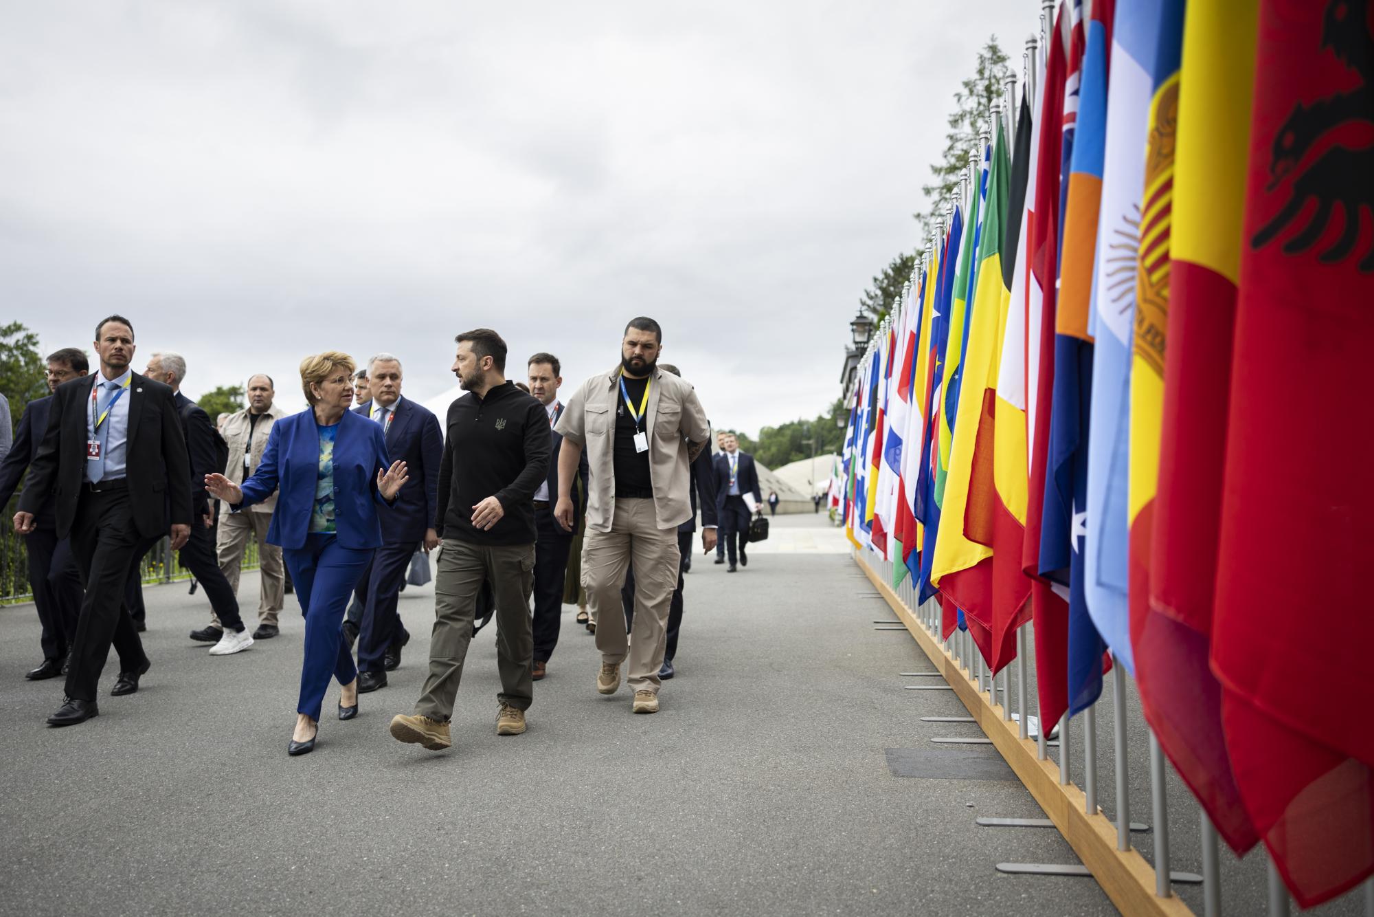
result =
[{"label": "grey-haired man in dark clothes wearing white sneakers", "polygon": [[210,423],[210,415],[199,404],[181,395],[181,382],[185,379],[185,357],[180,353],[164,351],[148,357],[148,367],[144,375],[172,388],[176,401],[177,415],[181,418],[181,434],[185,437],[185,448],[191,463],[191,538],[181,549],[181,566],[191,571],[195,580],[205,590],[205,597],[210,599],[210,608],[218,619],[224,631],[220,639],[210,648],[210,656],[232,656],[253,646],[253,635],[249,634],[243,619],[239,616],[239,599],[229,586],[229,579],[220,571],[220,562],[214,553],[214,513],[210,499],[205,494],[205,476],[223,474],[227,456],[224,455],[224,440]]}]

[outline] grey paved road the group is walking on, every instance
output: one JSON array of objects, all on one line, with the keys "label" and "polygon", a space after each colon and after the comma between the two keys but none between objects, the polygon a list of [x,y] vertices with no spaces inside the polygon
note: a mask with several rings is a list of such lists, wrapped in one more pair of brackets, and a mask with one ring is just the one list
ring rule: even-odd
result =
[{"label": "grey paved road the group is walking on", "polygon": [[[993,870],[1073,861],[1052,830],[974,826],[1040,814],[1014,780],[889,769],[903,760],[889,749],[951,733],[921,715],[963,711],[948,692],[901,689],[897,672],[923,657],[872,630],[886,606],[820,517],[778,517],[750,557],[688,576],[661,714],[631,715],[625,689],[595,693],[592,638],[569,608],[529,731],[495,736],[488,630],[444,753],[386,731],[422,681],[430,587],[403,595],[415,638],[390,686],[356,720],[326,719],[298,759],[297,615],[278,639],[210,657],[185,639],[203,598],[150,588],[143,689],[54,730],[60,686],[22,679],[33,609],[3,609],[0,913],[1114,913],[1091,880]],[[256,606],[254,576],[243,599]]]}]

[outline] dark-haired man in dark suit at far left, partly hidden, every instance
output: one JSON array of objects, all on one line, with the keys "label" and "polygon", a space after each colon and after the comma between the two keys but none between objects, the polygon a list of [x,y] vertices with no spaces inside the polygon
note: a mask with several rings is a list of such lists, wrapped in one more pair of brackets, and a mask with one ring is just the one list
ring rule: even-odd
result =
[{"label": "dark-haired man in dark suit at far left, partly hidden", "polygon": [[[67,379],[85,375],[89,368],[84,351],[63,348],[48,357],[48,390],[56,392]],[[0,462],[0,506],[10,502],[25,469],[38,454],[43,436],[48,432],[48,407],[52,396],[29,401],[19,418],[19,432],[14,447]],[[25,672],[29,681],[62,675],[67,661],[70,639],[76,634],[77,610],[81,608],[81,572],[71,555],[71,542],[58,538],[56,510],[52,495],[45,495],[38,513],[37,528],[23,540],[29,555],[29,586],[33,604],[43,624],[43,663]]]}]

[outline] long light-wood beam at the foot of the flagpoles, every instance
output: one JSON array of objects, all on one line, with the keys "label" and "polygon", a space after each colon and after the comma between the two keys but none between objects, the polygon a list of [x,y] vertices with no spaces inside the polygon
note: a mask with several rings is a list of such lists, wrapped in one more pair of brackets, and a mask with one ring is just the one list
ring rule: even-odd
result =
[{"label": "long light-wood beam at the foot of the flagpoles", "polygon": [[[1143,917],[1191,914],[1193,910],[1176,894],[1156,895],[1154,868],[1140,855],[1140,851],[1117,850],[1116,825],[1101,813],[1090,815],[1085,811],[1087,797],[1081,789],[1073,784],[1059,784],[1058,766],[1052,760],[1037,759],[1036,742],[1030,738],[1021,738],[1020,725],[1011,719],[1003,719],[1002,707],[993,707],[988,701],[987,693],[978,693],[973,679],[962,671],[960,664],[945,649],[943,641],[926,630],[918,613],[882,582],[874,568],[868,566],[863,551],[855,551],[853,560],[892,608],[892,612],[905,624],[905,630],[916,641],[916,646],[944,674],[945,682],[948,682],[948,685],[907,685],[905,687],[908,690],[945,687],[955,692],[984,734],[992,740],[998,753],[1007,762],[1046,817],[1083,861],[1083,865],[1076,868],[1076,872],[1081,870],[1077,874],[1095,877],[1102,891],[1124,914],[1132,914],[1132,917],[1136,914]],[[998,869],[1000,870],[1002,866],[999,865]],[[1191,873],[1173,873],[1173,876],[1179,876],[1176,881],[1195,881],[1189,879]]]}]

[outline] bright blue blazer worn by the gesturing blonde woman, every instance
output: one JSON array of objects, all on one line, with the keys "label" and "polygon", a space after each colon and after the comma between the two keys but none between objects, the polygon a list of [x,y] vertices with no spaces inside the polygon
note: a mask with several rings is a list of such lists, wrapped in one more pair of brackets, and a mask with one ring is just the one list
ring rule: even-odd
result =
[{"label": "bright blue blazer worn by the gesturing blonde woman", "polygon": [[[382,525],[376,507],[390,503],[376,489],[376,472],[390,465],[382,428],[365,417],[344,411],[334,440],[334,525],[341,547],[381,547]],[[279,491],[267,540],[282,547],[305,547],[319,476],[320,433],[315,410],[305,408],[272,425],[258,470],[243,481],[243,502],[234,511]]]}]

